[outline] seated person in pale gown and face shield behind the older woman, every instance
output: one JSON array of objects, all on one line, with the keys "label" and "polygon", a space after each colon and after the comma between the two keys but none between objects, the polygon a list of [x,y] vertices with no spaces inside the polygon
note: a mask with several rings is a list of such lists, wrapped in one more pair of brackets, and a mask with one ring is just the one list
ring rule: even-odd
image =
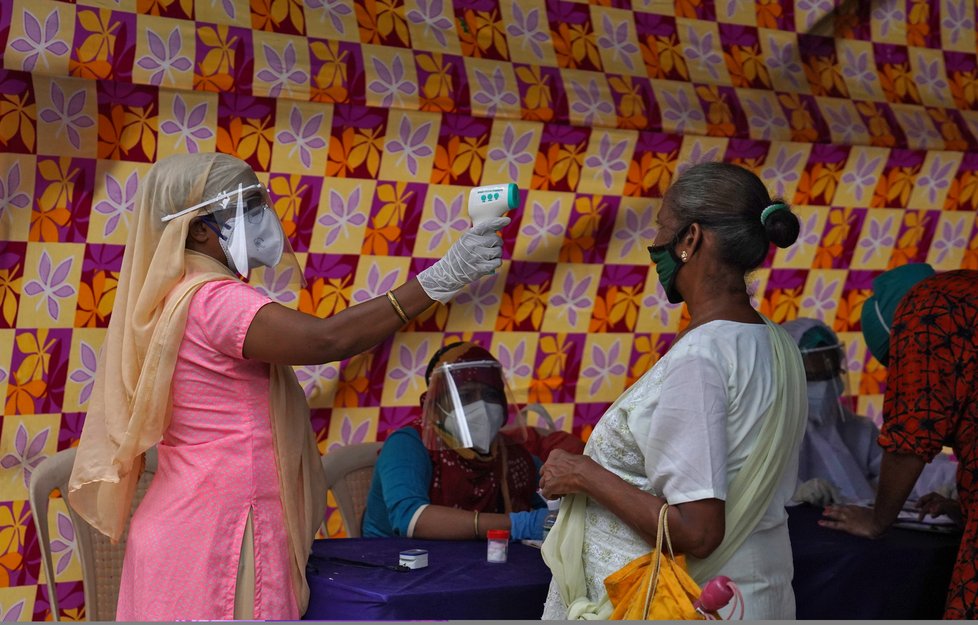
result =
[{"label": "seated person in pale gown and face shield behind the older woman", "polygon": [[[808,383],[808,424],[793,499],[815,505],[871,503],[883,449],[876,424],[851,409],[845,348],[817,319],[782,325],[798,343]],[[935,510],[946,507],[946,497],[955,490],[956,464],[947,455],[936,457],[921,473],[910,499],[933,502],[930,507]]]}]

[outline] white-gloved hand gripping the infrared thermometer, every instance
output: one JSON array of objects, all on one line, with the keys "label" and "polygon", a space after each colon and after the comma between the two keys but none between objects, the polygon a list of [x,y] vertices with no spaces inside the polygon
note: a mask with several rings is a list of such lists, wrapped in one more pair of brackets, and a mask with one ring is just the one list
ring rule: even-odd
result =
[{"label": "white-gloved hand gripping the infrared thermometer", "polygon": [[509,217],[496,217],[462,234],[445,257],[418,274],[421,288],[433,300],[445,303],[462,288],[492,273],[502,264],[503,241],[496,231]]}]

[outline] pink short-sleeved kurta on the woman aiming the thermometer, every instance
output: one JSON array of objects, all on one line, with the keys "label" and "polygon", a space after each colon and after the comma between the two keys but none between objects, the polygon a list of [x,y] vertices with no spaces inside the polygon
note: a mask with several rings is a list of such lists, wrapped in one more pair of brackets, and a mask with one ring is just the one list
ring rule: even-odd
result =
[{"label": "pink short-sleeved kurta on the woman aiming the thermometer", "polygon": [[267,297],[236,280],[193,296],[159,468],[133,516],[118,620],[230,619],[253,514],[255,619],[299,618],[269,420],[269,366],[242,357]]}]

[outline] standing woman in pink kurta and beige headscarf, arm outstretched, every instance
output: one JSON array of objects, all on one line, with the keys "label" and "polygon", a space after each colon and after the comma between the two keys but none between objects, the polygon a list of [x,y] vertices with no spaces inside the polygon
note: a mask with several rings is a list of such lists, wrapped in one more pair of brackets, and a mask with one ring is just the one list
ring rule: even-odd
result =
[{"label": "standing woman in pink kurta and beige headscarf, arm outstretched", "polygon": [[[496,270],[490,220],[405,284],[321,319],[239,276],[298,286],[268,192],[224,154],[173,156],[141,182],[69,503],[119,540],[144,454],[159,466],[129,525],[118,620],[297,619],[326,489],[291,365],[370,349]],[[258,272],[254,277],[258,277]]]}]

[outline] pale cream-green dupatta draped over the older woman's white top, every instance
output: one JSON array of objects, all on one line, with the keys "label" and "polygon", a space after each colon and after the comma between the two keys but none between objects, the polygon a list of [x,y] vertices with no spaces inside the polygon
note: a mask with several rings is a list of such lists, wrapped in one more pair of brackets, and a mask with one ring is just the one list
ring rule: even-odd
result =
[{"label": "pale cream-green dupatta draped over the older woman's white top", "polygon": [[[761,417],[761,431],[753,451],[730,482],[724,514],[723,542],[707,558],[687,558],[687,568],[698,584],[715,576],[744,544],[767,510],[785,468],[805,432],[807,399],[805,369],[795,342],[767,318],[771,331],[772,370],[776,395]],[[606,594],[593,601],[584,580],[584,513],[587,496],[564,497],[557,522],[543,543],[543,559],[553,573],[568,619],[601,619],[613,606]]]}]

